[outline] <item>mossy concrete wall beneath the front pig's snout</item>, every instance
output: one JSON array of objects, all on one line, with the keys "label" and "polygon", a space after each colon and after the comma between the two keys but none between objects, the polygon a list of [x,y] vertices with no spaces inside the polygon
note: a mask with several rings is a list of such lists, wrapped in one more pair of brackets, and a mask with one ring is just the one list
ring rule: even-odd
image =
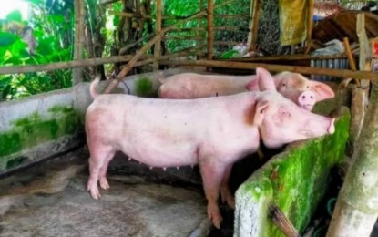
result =
[{"label": "mossy concrete wall beneath the front pig's snout", "polygon": [[344,159],[350,112],[342,107],[337,114],[334,134],[291,144],[240,186],[234,236],[284,236],[268,219],[271,202],[303,232],[327,191],[332,168]]}]

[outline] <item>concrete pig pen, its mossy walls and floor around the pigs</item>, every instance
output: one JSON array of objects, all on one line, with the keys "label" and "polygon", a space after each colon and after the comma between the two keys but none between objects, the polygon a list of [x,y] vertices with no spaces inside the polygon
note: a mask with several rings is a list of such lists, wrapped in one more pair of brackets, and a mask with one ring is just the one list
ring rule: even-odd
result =
[{"label": "concrete pig pen, its mossy walls and floor around the pigs", "polygon": [[[128,77],[115,93],[156,97],[157,78]],[[283,236],[268,219],[271,201],[303,232],[344,158],[350,115],[339,107],[349,103],[347,90],[315,108],[322,114],[338,108],[332,136],[284,152],[262,147],[263,159],[253,154],[234,165],[236,210],[220,206],[220,230],[207,219],[198,167],[149,170],[117,153],[107,171],[111,188],[95,201],[86,191],[88,85],[0,104],[1,236]]]}]

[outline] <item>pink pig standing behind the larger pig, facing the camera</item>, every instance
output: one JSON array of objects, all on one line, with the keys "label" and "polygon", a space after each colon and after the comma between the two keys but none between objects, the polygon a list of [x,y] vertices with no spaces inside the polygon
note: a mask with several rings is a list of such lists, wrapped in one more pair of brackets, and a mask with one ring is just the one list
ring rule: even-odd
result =
[{"label": "pink pig standing behind the larger pig, facing the camera", "polygon": [[[310,111],[316,102],[334,97],[328,85],[309,80],[299,73],[281,72],[273,78],[277,90],[285,98]],[[207,98],[259,89],[255,75],[238,77],[181,73],[160,78],[160,82],[159,98]]]}]

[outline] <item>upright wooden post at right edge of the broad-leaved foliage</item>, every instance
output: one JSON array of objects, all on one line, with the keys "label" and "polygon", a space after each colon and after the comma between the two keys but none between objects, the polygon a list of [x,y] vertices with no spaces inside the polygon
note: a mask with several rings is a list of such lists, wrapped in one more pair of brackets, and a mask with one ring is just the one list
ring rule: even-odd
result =
[{"label": "upright wooden post at right edge of the broad-leaved foliage", "polygon": [[[84,46],[84,0],[74,1],[75,11],[75,51],[74,60],[80,60],[83,58],[83,46]],[[80,67],[72,70],[72,85],[83,81],[83,70]]]}]

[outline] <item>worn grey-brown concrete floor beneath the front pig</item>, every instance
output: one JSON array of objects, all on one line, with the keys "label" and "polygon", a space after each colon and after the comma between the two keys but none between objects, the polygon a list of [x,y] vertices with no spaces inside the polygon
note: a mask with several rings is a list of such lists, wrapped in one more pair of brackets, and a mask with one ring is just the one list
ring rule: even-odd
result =
[{"label": "worn grey-brown concrete floor beneath the front pig", "polygon": [[86,149],[1,179],[0,236],[209,235],[198,170],[130,171],[135,166],[122,156],[112,160],[110,190],[98,201],[86,191]]}]

